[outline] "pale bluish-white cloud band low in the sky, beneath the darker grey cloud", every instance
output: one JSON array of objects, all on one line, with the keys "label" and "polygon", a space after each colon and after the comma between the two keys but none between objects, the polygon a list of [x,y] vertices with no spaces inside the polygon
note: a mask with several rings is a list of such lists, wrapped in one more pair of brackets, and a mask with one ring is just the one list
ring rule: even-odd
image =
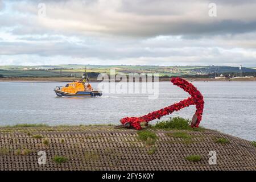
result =
[{"label": "pale bluish-white cloud band low in the sky, beneath the darker grey cloud", "polygon": [[[51,38],[49,38],[51,39]],[[109,39],[109,41],[102,41],[101,39],[82,39],[80,42],[64,41],[58,36],[53,36],[52,40],[43,38],[31,39],[27,42],[0,42],[0,55],[38,55],[38,56],[68,56],[68,57],[95,57],[101,60],[122,60],[122,59],[138,59],[138,57],[156,58],[162,57],[183,57],[184,61],[188,57],[200,59],[200,57],[218,57],[228,55],[230,52],[235,56],[242,55],[242,51],[232,51],[232,46],[221,46],[217,42],[210,42],[209,39],[204,41],[195,41],[182,39],[175,39],[170,37],[163,37],[162,39],[148,39],[141,41],[126,41]],[[22,39],[20,39],[22,40]],[[255,41],[254,41],[255,43]],[[219,48],[220,47],[220,48]],[[230,51],[231,49],[231,51]],[[254,52],[254,49],[248,49],[247,53]],[[229,54],[231,57],[232,54]],[[239,57],[239,56],[238,56]],[[240,60],[242,61],[242,60]]]}]

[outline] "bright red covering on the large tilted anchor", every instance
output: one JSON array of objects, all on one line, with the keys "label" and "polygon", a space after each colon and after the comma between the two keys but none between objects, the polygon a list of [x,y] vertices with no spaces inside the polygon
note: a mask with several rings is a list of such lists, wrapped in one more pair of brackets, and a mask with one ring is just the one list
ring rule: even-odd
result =
[{"label": "bright red covering on the large tilted anchor", "polygon": [[142,117],[122,118],[120,119],[120,122],[123,125],[127,122],[130,122],[132,127],[134,127],[137,130],[141,130],[142,129],[140,125],[141,122],[150,122],[154,119],[160,119],[164,115],[171,114],[172,112],[183,109],[184,107],[188,107],[189,105],[196,105],[197,121],[194,125],[191,124],[191,127],[198,127],[202,119],[203,109],[204,109],[203,95],[199,92],[199,90],[196,89],[194,85],[192,85],[186,80],[183,80],[182,78],[179,78],[179,77],[171,78],[171,82],[174,85],[179,86],[185,92],[188,92],[191,95],[191,97],[188,97],[185,100],[175,103],[171,106],[167,106],[167,107],[164,107],[163,109],[156,110],[152,113],[148,113],[147,115],[143,115]]}]

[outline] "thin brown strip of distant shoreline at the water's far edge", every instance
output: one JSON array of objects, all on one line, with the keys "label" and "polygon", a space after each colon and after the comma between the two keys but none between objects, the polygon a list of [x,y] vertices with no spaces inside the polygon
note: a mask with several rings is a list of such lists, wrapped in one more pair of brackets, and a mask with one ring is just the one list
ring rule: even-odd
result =
[{"label": "thin brown strip of distant shoreline at the water's far edge", "polygon": [[[0,78],[0,82],[72,82],[77,81],[80,78],[72,78],[72,77],[23,77],[23,78]],[[254,78],[184,78],[187,81],[256,81],[256,77]],[[159,81],[170,81],[170,78],[159,78]],[[90,78],[89,82],[101,82],[97,80],[97,78]]]}]

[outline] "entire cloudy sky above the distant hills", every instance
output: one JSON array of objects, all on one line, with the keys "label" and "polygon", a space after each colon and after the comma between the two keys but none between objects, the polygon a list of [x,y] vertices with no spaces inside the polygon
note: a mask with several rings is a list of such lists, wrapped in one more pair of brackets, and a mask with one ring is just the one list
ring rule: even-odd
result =
[{"label": "entire cloudy sky above the distant hills", "polygon": [[253,0],[0,0],[0,65],[256,67]]}]

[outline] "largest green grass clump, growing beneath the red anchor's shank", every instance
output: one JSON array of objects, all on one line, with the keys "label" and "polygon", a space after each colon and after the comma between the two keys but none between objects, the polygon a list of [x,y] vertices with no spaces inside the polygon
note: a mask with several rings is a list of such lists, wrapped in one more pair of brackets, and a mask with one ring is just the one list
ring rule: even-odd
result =
[{"label": "largest green grass clump, growing beneath the red anchor's shank", "polygon": [[181,117],[170,118],[167,121],[161,121],[151,126],[153,129],[169,129],[169,130],[192,130],[192,131],[204,131],[203,127],[192,128],[190,126],[191,121]]}]

